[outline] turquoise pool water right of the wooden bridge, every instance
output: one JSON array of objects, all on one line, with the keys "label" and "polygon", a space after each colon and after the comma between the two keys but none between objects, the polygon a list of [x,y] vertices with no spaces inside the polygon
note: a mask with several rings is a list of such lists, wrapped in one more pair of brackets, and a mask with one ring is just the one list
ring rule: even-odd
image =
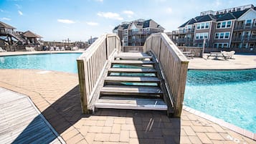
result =
[{"label": "turquoise pool water right of the wooden bridge", "polygon": [[189,70],[184,105],[256,133],[256,69]]}]

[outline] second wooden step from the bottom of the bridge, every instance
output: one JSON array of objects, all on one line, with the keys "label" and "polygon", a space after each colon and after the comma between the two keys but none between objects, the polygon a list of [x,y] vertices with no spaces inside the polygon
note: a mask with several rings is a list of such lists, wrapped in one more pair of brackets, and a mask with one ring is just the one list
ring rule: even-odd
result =
[{"label": "second wooden step from the bottom of the bridge", "polygon": [[148,95],[163,94],[159,87],[105,85],[100,90],[101,95]]}]

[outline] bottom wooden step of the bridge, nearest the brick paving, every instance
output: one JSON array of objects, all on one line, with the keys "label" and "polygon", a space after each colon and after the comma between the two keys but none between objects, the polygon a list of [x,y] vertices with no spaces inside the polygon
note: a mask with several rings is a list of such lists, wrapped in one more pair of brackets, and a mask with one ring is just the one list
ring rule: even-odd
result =
[{"label": "bottom wooden step of the bridge, nearest the brick paving", "polygon": [[138,97],[100,97],[95,103],[95,107],[133,110],[167,110],[167,105],[161,98],[147,99]]}]

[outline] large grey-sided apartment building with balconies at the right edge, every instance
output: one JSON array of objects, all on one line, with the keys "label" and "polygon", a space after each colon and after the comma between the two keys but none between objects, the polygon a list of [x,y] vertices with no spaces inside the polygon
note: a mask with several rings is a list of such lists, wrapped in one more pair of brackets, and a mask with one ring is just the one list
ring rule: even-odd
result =
[{"label": "large grey-sided apartment building with balconies at the right edge", "polygon": [[173,31],[177,46],[205,47],[208,50],[256,52],[256,7],[252,4],[220,11],[203,11]]}]

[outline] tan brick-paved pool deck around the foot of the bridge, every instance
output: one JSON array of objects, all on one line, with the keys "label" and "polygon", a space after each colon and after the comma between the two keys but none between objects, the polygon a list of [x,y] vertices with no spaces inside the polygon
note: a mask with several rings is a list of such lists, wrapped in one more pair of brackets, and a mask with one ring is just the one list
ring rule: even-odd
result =
[{"label": "tan brick-paved pool deck around the foot of the bridge", "polygon": [[[4,53],[7,54],[1,52],[0,55]],[[32,52],[22,54],[26,53]],[[205,66],[200,68],[202,64],[207,64],[207,69],[222,67],[216,64],[231,67],[228,62],[233,63],[235,69],[256,68],[255,59],[256,56],[235,55],[235,59],[215,63],[213,59],[194,58],[189,60],[189,69],[204,69]],[[75,74],[0,69],[0,75],[0,87],[30,97],[65,143],[256,143],[256,134],[189,107],[184,107],[181,118],[169,118],[165,112],[148,110],[103,109],[94,115],[82,115]]]}]

